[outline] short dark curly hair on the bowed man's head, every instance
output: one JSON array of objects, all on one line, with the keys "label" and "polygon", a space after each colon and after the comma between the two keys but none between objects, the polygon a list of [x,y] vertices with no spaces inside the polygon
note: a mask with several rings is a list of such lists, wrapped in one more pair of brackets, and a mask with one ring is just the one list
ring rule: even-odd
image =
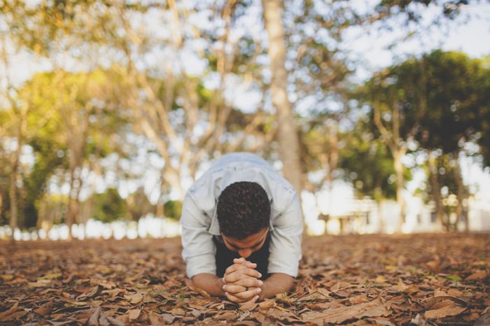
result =
[{"label": "short dark curly hair on the bowed man's head", "polygon": [[218,222],[221,233],[233,239],[245,239],[269,226],[270,203],[258,183],[232,183],[218,198]]}]

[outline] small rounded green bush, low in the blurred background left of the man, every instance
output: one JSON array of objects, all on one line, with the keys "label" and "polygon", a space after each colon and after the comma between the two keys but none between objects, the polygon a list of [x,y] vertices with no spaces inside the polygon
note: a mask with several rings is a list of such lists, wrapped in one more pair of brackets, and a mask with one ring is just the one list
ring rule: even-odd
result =
[{"label": "small rounded green bush, low in the blurred background left of the man", "polygon": [[127,217],[126,201],[115,188],[108,188],[102,194],[94,194],[93,217],[102,222],[112,222]]}]

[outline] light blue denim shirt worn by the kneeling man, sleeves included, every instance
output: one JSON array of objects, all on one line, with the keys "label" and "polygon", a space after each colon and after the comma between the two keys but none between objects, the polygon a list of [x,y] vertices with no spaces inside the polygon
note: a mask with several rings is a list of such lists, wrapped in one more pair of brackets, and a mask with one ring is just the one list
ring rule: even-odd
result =
[{"label": "light blue denim shirt worn by the kneeling man, sleeves included", "polygon": [[216,275],[213,236],[220,235],[216,204],[221,191],[238,181],[258,183],[271,203],[268,273],[296,277],[303,229],[300,199],[293,186],[269,163],[250,153],[223,155],[186,193],[181,225],[187,276]]}]

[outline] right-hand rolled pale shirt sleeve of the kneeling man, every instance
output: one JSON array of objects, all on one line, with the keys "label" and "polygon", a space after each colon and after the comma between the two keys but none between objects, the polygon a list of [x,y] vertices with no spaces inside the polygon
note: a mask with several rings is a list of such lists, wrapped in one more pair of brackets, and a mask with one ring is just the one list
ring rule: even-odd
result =
[{"label": "right-hand rolled pale shirt sleeve of the kneeling man", "polygon": [[301,259],[302,210],[297,194],[284,213],[273,221],[267,272],[296,277]]}]

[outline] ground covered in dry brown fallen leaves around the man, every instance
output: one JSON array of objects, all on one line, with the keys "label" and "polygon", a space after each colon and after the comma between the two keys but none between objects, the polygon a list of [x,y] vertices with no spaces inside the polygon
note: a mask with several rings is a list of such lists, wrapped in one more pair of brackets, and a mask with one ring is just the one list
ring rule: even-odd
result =
[{"label": "ground covered in dry brown fallen leaves around the man", "polygon": [[304,239],[293,293],[186,283],[180,239],[0,242],[0,325],[489,325],[489,234]]}]

